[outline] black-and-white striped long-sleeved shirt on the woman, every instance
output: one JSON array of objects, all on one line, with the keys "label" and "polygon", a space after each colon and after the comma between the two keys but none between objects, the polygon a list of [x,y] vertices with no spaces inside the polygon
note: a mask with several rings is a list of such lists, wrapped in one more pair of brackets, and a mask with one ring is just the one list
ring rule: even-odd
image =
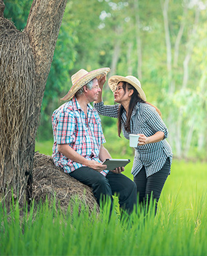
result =
[{"label": "black-and-white striped long-sleeved shirt on the woman", "polygon": [[[99,102],[93,105],[100,115],[118,118],[120,104],[105,105],[104,102]],[[125,130],[126,120],[127,115],[124,109],[121,126],[123,136],[129,140],[129,132]],[[164,139],[157,143],[149,143],[135,148],[132,166],[134,176],[140,172],[143,166],[147,177],[159,172],[168,157],[170,158],[170,165],[172,164],[172,149],[165,139],[168,137],[168,129],[154,107],[147,103],[138,102],[132,111],[130,129],[130,134],[144,134],[147,137],[154,135],[157,131],[163,131],[165,134]]]}]

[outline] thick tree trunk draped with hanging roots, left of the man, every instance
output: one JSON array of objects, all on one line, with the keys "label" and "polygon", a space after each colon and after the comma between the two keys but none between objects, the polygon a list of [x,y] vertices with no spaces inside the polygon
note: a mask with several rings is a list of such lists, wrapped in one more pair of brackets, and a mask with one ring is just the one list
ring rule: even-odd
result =
[{"label": "thick tree trunk draped with hanging roots, left of the man", "polygon": [[[0,84],[3,89],[1,122],[6,127],[1,131],[0,200],[4,199],[6,205],[10,203],[12,191],[20,205],[25,196],[27,199],[31,197],[35,136],[65,7],[66,0],[34,0],[24,32],[8,26],[1,30],[0,60],[5,63],[8,60],[4,73],[1,70],[4,82],[1,80]],[[3,22],[8,24],[10,21],[2,18]],[[4,42],[10,49],[6,50]],[[10,55],[8,50],[13,54]],[[14,64],[16,80],[12,72]]]}]

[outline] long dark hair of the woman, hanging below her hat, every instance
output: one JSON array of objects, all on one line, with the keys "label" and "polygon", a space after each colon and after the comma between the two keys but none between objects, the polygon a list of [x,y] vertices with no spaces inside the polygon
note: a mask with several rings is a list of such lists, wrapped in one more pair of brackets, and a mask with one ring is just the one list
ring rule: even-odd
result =
[{"label": "long dark hair of the woman, hanging below her hat", "polygon": [[[126,88],[128,90],[133,90],[132,97],[131,97],[131,100],[129,102],[129,112],[127,113],[127,121],[125,123],[125,130],[127,132],[131,132],[130,119],[131,119],[131,116],[132,116],[132,111],[133,111],[134,107],[136,106],[137,102],[142,102],[142,103],[147,103],[147,104],[150,104],[150,103],[146,102],[145,100],[143,100],[141,98],[140,94],[138,93],[138,91],[136,91],[134,86],[132,86],[131,84],[129,84],[127,82],[123,82],[123,90],[125,91],[125,93],[126,93]],[[152,107],[155,107],[152,104],[150,104],[150,105]],[[161,111],[157,107],[155,107],[155,109],[159,113],[159,115],[161,116]],[[120,104],[119,111],[118,111],[118,136],[119,137],[120,137],[120,133],[121,133],[121,120],[122,120],[123,111],[124,111],[124,107],[123,107],[122,104]]]}]

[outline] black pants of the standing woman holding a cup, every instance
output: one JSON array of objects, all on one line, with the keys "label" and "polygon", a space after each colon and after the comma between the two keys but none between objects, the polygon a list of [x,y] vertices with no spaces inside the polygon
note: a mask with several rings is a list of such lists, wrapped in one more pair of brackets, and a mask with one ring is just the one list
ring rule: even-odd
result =
[{"label": "black pants of the standing woman holding a cup", "polygon": [[139,196],[139,203],[145,204],[147,202],[147,205],[149,205],[152,195],[152,200],[156,200],[155,214],[157,210],[157,203],[169,172],[170,158],[167,158],[159,172],[156,172],[146,178],[145,167],[142,167],[141,171],[134,177],[134,182],[136,183],[137,193]]}]

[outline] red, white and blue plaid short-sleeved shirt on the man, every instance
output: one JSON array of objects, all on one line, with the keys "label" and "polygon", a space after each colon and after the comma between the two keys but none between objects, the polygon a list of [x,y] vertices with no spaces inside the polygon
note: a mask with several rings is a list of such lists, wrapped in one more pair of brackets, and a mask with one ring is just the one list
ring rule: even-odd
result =
[{"label": "red, white and blue plaid short-sleeved shirt on the man", "polygon": [[[85,166],[71,161],[58,152],[58,144],[68,144],[84,158],[101,163],[100,146],[106,141],[102,133],[100,117],[90,104],[87,107],[86,117],[78,100],[74,97],[53,112],[52,124],[54,137],[52,156],[56,166],[62,167],[67,173]],[[100,173],[106,176],[108,172],[105,170]]]}]

